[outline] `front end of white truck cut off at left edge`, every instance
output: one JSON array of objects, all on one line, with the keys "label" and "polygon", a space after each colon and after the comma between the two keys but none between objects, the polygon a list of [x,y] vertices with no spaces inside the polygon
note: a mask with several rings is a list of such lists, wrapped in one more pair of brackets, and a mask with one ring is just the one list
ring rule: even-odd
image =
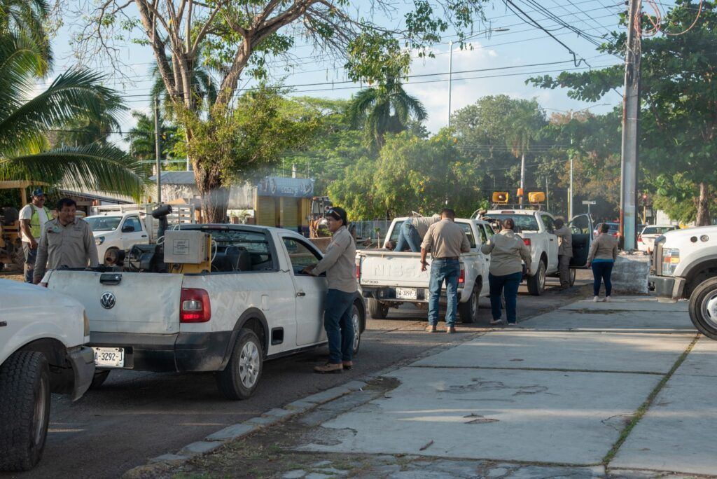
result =
[{"label": "front end of white truck cut off at left edge", "polygon": [[95,374],[90,323],[72,298],[0,280],[0,471],[29,470],[42,458],[50,393],[72,401]]}]

